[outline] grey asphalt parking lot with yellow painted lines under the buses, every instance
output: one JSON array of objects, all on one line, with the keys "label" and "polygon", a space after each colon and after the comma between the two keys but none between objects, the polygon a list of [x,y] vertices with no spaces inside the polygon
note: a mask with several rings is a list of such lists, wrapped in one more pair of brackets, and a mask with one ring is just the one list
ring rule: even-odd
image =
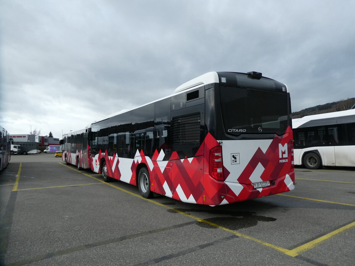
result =
[{"label": "grey asphalt parking lot with yellow painted lines under the buses", "polygon": [[355,265],[355,169],[295,170],[295,190],[222,206],[143,199],[54,154],[0,172],[3,265]]}]

